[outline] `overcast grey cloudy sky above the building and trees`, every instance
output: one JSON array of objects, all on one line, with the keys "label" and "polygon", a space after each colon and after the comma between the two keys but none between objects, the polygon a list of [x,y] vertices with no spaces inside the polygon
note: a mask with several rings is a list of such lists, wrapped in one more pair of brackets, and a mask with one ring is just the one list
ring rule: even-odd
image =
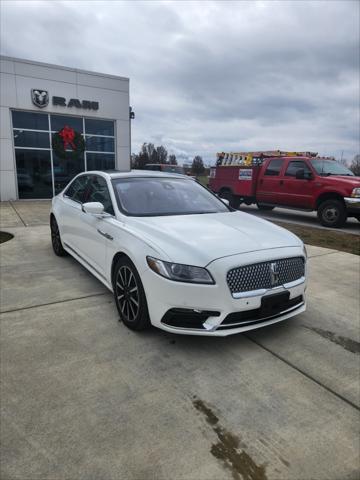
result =
[{"label": "overcast grey cloudy sky above the building and trees", "polygon": [[4,1],[1,54],[130,78],[133,151],[359,153],[357,1]]}]

